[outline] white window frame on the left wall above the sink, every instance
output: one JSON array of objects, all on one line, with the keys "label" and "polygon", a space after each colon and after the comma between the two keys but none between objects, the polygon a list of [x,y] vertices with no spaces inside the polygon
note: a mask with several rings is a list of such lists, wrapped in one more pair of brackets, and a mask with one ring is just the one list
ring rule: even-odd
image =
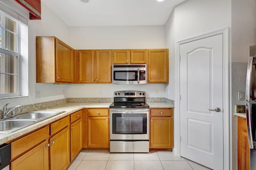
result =
[{"label": "white window frame on the left wall above the sink", "polygon": [[[17,91],[16,91],[17,93],[1,94],[0,92],[0,99],[28,96],[28,76],[27,76],[28,70],[26,68],[28,68],[28,39],[27,38],[28,38],[29,12],[13,0],[0,0],[0,11],[4,13],[4,15],[7,16],[8,18],[17,22],[17,36],[16,36],[17,52],[0,48],[0,53],[17,57],[17,74],[18,74],[17,75]],[[1,33],[1,35],[3,34]],[[3,39],[4,38],[2,37],[1,41],[3,41]],[[1,44],[3,45],[3,42]],[[20,64],[22,64],[22,66],[20,66]],[[23,67],[26,67],[26,68],[22,69]],[[16,75],[16,74],[9,74],[9,75]]]}]

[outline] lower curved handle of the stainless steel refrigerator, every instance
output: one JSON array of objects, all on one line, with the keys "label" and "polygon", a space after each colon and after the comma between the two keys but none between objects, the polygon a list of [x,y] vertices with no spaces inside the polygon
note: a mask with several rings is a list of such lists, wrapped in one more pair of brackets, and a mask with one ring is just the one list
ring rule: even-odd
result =
[{"label": "lower curved handle of the stainless steel refrigerator", "polygon": [[252,117],[251,117],[251,107],[250,104],[246,103],[246,127],[247,127],[247,133],[248,133],[248,143],[250,149],[254,149],[253,146],[253,138],[252,138]]}]

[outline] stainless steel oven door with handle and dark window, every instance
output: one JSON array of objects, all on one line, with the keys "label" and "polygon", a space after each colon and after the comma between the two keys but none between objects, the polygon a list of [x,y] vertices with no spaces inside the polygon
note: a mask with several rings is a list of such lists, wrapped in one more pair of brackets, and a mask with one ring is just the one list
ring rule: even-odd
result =
[{"label": "stainless steel oven door with handle and dark window", "polygon": [[149,140],[148,109],[110,109],[110,140]]}]

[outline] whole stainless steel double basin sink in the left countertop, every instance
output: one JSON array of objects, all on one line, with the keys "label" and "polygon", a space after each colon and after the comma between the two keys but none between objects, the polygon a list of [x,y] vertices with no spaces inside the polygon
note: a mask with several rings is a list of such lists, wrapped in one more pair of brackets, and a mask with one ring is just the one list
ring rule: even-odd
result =
[{"label": "whole stainless steel double basin sink in the left countertop", "polygon": [[64,113],[64,111],[31,111],[16,117],[4,119],[0,121],[0,134],[12,133],[60,113]]}]

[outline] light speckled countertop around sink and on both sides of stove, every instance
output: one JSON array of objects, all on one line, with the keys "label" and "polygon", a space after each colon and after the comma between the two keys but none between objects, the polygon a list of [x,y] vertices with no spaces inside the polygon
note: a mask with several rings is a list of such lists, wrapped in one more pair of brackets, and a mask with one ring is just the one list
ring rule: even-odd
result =
[{"label": "light speckled countertop around sink and on both sides of stove", "polygon": [[[173,108],[174,107],[171,104],[168,104],[166,102],[146,102],[146,103],[151,108],[157,108],[157,107]],[[28,127],[24,127],[18,131],[14,131],[9,134],[0,134],[0,145],[6,143],[8,141],[11,141],[13,139],[16,139],[17,137],[20,137],[26,133],[29,133],[35,129],[43,127],[44,125],[48,125],[49,123],[52,123],[53,121],[56,121],[62,117],[70,115],[71,113],[79,111],[83,108],[109,108],[110,104],[112,104],[112,102],[70,102],[70,103],[60,104],[57,106],[41,109],[40,111],[65,111],[65,112],[55,115],[53,117],[50,117],[48,119],[45,119],[43,121],[39,121],[32,125],[29,125]]]}]

